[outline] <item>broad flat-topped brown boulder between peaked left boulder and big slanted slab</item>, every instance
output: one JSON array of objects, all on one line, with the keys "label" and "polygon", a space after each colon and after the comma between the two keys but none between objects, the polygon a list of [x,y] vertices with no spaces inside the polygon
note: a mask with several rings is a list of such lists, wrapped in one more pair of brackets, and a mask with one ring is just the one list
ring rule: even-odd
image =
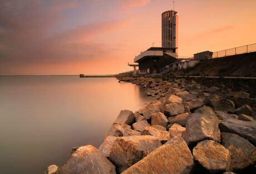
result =
[{"label": "broad flat-topped brown boulder between peaked left boulder and big slanted slab", "polygon": [[161,142],[154,136],[119,137],[112,146],[109,159],[121,173],[159,146]]}]

